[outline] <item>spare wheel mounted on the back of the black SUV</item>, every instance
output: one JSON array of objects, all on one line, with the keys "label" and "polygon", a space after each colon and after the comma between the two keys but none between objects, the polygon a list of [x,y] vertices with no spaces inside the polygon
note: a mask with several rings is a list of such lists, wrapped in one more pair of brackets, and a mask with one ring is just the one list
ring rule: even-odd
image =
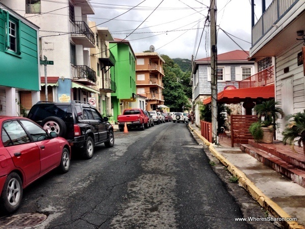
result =
[{"label": "spare wheel mounted on the back of the black SUV", "polygon": [[66,134],[66,123],[58,117],[47,117],[40,124],[47,132],[55,132],[59,137]]}]

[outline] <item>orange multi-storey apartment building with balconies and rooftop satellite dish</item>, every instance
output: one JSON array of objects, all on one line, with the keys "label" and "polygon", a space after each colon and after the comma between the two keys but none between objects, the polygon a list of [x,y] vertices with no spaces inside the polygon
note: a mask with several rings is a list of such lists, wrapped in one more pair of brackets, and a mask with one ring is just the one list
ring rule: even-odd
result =
[{"label": "orange multi-storey apartment building with balconies and rooftop satellite dish", "polygon": [[157,52],[140,52],[136,55],[137,94],[145,97],[146,110],[156,110],[164,105],[163,64],[165,61]]}]

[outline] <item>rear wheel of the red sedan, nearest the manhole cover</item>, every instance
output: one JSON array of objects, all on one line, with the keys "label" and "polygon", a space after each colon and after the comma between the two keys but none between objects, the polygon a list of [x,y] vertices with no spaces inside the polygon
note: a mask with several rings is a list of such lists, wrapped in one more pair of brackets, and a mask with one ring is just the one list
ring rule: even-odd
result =
[{"label": "rear wheel of the red sedan, nearest the manhole cover", "polygon": [[16,211],[20,206],[22,194],[22,182],[19,175],[9,174],[1,194],[1,209],[8,213]]}]

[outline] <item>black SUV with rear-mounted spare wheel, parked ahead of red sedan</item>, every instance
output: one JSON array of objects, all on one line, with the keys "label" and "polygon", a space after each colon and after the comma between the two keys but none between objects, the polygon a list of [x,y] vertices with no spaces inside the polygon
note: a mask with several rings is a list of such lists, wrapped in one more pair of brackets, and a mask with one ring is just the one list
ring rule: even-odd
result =
[{"label": "black SUV with rear-mounted spare wheel, parked ahead of red sedan", "polygon": [[81,101],[55,103],[39,101],[27,118],[41,125],[48,132],[56,132],[66,138],[72,151],[81,150],[90,159],[96,145],[104,143],[113,147],[113,127],[107,117],[102,117],[92,105]]}]

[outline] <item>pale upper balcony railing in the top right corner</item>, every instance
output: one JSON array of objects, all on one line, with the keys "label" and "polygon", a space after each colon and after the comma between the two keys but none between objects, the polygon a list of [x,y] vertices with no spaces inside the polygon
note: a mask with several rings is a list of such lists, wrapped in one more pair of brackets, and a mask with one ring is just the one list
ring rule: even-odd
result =
[{"label": "pale upper balcony railing in the top right corner", "polygon": [[269,29],[272,24],[281,18],[286,11],[298,0],[273,0],[263,15],[252,27],[252,45],[254,45]]}]

